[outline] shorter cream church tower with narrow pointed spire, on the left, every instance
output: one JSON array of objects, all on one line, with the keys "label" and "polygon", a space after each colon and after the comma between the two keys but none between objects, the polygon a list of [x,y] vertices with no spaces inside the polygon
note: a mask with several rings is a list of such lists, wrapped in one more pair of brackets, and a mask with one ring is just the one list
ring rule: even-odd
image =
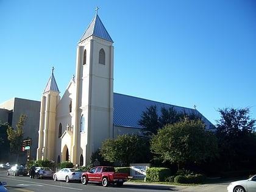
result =
[{"label": "shorter cream church tower with narrow pointed spire, on the left", "polygon": [[55,119],[59,101],[60,91],[55,81],[54,68],[52,67],[52,74],[41,98],[37,160],[53,160],[55,157]]}]

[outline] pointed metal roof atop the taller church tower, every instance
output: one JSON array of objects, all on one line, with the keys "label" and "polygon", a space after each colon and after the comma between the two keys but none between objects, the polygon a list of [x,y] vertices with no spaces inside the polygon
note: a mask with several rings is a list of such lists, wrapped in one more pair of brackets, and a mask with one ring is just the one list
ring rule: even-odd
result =
[{"label": "pointed metal roof atop the taller church tower", "polygon": [[91,20],[91,23],[87,27],[87,30],[85,30],[79,42],[85,40],[91,35],[113,42],[112,38],[108,34],[98,15],[95,15],[93,20]]}]

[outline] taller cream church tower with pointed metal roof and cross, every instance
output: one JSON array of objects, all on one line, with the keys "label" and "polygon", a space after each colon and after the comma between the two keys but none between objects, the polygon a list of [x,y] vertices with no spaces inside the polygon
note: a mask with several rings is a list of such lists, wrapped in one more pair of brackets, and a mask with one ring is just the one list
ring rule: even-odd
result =
[{"label": "taller cream church tower with pointed metal roof and cross", "polygon": [[96,15],[80,38],[76,60],[76,121],[84,165],[113,137],[113,40]]}]

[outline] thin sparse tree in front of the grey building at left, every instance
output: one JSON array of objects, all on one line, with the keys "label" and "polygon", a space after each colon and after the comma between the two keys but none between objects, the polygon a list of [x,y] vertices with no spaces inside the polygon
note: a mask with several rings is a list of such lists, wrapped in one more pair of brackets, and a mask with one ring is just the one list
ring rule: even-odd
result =
[{"label": "thin sparse tree in front of the grey building at left", "polygon": [[10,141],[10,152],[17,155],[16,162],[18,161],[19,154],[21,152],[24,131],[23,126],[25,123],[26,115],[21,115],[18,124],[16,124],[16,130],[8,126],[7,139]]}]

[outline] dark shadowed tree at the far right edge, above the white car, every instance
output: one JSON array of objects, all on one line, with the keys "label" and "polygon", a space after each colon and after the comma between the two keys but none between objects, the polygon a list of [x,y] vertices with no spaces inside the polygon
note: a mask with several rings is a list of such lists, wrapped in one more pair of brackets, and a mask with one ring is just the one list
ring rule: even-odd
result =
[{"label": "dark shadowed tree at the far right edge, above the white car", "polygon": [[220,162],[224,169],[241,169],[242,162],[254,164],[255,119],[249,116],[249,108],[219,109],[221,119],[216,124]]}]

